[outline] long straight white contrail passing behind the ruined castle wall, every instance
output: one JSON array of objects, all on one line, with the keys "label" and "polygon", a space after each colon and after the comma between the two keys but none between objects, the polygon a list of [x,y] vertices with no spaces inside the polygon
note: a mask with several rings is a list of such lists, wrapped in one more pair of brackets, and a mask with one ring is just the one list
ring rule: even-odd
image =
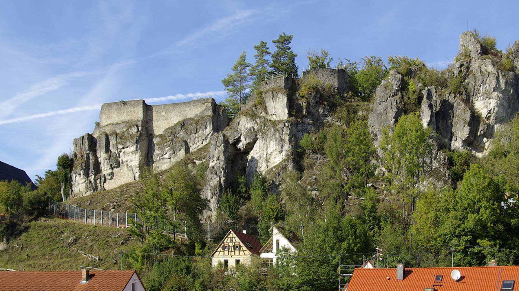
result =
[{"label": "long straight white contrail passing behind the ruined castle wall", "polygon": [[[144,100],[146,101],[146,103],[157,103],[157,102],[168,101],[168,100],[183,100],[183,99],[196,99],[196,98],[202,98],[202,97],[210,97],[210,96],[211,97],[212,96],[222,96],[225,94],[226,94],[226,91],[209,91],[209,92],[205,92],[205,93],[196,92],[196,93],[169,95],[166,97],[146,98]],[[38,119],[38,118],[51,117],[54,115],[69,114],[69,113],[75,113],[75,112],[80,112],[80,111],[99,110],[101,108],[101,105],[103,105],[103,104],[99,103],[99,104],[86,105],[86,106],[81,106],[81,107],[72,107],[72,108],[68,108],[68,109],[48,111],[45,113],[38,113],[38,114],[28,115],[28,116],[19,117],[19,118],[0,120],[0,125],[30,121],[30,120],[34,120],[34,119]]]}]

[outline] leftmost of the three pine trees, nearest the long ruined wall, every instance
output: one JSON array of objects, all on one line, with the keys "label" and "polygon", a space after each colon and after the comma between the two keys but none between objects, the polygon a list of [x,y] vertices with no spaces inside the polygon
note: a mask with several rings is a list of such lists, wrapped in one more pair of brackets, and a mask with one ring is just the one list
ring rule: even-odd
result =
[{"label": "leftmost of the three pine trees, nearest the long ruined wall", "polygon": [[229,97],[225,99],[222,104],[228,108],[231,113],[238,113],[241,105],[247,101],[250,88],[250,76],[248,69],[251,66],[247,63],[245,52],[242,52],[233,66],[232,74],[227,74],[225,79],[222,79],[222,84],[225,86]]}]

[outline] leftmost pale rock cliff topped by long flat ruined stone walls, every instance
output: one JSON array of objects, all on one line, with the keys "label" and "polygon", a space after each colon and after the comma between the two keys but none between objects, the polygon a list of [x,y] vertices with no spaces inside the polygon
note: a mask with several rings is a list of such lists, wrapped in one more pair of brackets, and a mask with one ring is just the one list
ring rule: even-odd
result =
[{"label": "leftmost pale rock cliff topped by long flat ruined stone walls", "polygon": [[153,106],[144,100],[103,104],[94,132],[74,140],[72,195],[138,180],[144,167],[167,169],[227,123],[225,109],[212,98]]}]

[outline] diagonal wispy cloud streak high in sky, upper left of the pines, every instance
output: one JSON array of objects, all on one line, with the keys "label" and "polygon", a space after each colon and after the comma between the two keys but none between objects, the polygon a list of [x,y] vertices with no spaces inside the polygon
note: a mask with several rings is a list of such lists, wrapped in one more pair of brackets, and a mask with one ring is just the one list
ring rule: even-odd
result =
[{"label": "diagonal wispy cloud streak high in sky, upper left of the pines", "polygon": [[176,41],[168,49],[151,55],[151,57],[161,54],[175,53],[179,52],[180,50],[201,46],[203,43],[207,43],[208,37],[225,35],[234,27],[241,26],[244,22],[252,21],[252,16],[258,12],[259,10],[256,9],[239,10],[230,16],[217,19],[208,25],[198,28],[183,39]]}]

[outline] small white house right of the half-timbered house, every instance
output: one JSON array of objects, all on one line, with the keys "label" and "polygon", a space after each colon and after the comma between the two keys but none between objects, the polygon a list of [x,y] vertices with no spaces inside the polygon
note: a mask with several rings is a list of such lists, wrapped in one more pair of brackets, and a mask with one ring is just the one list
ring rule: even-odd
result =
[{"label": "small white house right of the half-timbered house", "polygon": [[297,236],[290,231],[284,231],[285,234],[288,234],[285,236],[279,231],[279,229],[280,228],[277,226],[273,226],[271,228],[272,236],[260,250],[260,257],[266,259],[269,265],[276,264],[278,252],[282,249],[285,249],[289,252],[297,252],[294,244],[295,242],[299,241],[299,238],[297,238]]}]

